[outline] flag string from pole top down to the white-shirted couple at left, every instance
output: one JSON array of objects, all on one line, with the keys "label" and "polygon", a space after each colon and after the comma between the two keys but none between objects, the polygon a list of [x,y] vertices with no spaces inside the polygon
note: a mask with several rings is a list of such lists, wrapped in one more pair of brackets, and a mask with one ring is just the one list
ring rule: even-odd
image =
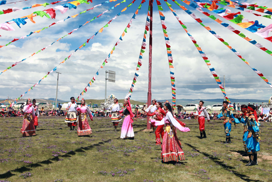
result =
[{"label": "flag string from pole top down to the white-shirted couple at left", "polygon": [[[135,1],[135,0],[134,0]],[[108,62],[108,59],[110,58],[110,56],[114,53],[115,47],[120,43],[120,40],[123,41],[124,36],[127,33],[127,29],[131,27],[132,21],[133,19],[136,18],[136,14],[138,14],[138,10],[141,8],[141,5],[145,2],[145,0],[142,0],[140,5],[138,6],[136,12],[134,13],[134,15],[132,16],[129,24],[127,25],[127,27],[125,28],[124,32],[122,33],[122,35],[120,36],[120,38],[118,39],[118,41],[116,42],[116,44],[114,45],[113,49],[110,51],[108,57],[105,59],[105,61],[102,63],[102,65],[98,68],[98,70],[96,71],[95,75],[99,74],[99,70],[100,68],[103,68],[105,66],[105,64]],[[89,89],[89,87],[91,87],[91,83],[93,83],[96,79],[96,76],[93,76],[91,81],[88,83],[88,85],[84,88],[84,90],[80,93],[80,95],[77,97],[76,101],[79,101],[79,98],[84,95],[84,93],[86,93]]]}]

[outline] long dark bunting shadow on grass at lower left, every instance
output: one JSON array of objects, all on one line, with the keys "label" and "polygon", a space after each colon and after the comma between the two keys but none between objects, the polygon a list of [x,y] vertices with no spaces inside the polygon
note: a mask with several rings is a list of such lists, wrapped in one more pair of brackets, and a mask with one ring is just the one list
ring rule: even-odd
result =
[{"label": "long dark bunting shadow on grass at lower left", "polygon": [[[64,154],[64,155],[60,155],[60,156],[57,156],[57,157],[53,157],[51,159],[47,159],[45,161],[42,161],[42,162],[38,162],[38,163],[34,163],[34,164],[30,164],[28,166],[23,166],[21,168],[17,168],[15,170],[11,170],[11,171],[8,171],[4,174],[0,174],[0,179],[7,179],[7,178],[10,178],[12,176],[14,176],[14,174],[12,174],[11,172],[19,172],[19,173],[23,173],[23,172],[26,172],[26,171],[31,171],[31,168],[37,168],[37,167],[43,167],[43,165],[41,164],[51,164],[53,163],[52,161],[59,161],[59,157],[64,157],[64,158],[67,158],[67,157],[71,157],[72,155],[76,155],[76,153],[82,153],[82,152],[85,152],[84,150],[91,150],[91,148],[93,148],[93,146],[100,146],[100,145],[103,145],[107,142],[111,141],[111,139],[108,139],[106,141],[102,141],[102,142],[99,142],[99,143],[96,143],[94,145],[90,145],[90,146],[87,146],[87,147],[81,147],[81,148],[78,148],[76,149],[75,151],[70,151],[68,152],[67,154]],[[30,168],[27,168],[27,167],[30,167]]]}]

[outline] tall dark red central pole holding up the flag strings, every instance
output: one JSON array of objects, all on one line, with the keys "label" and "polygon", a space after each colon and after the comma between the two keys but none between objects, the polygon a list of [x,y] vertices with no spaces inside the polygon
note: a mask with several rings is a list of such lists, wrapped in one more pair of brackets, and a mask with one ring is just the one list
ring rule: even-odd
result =
[{"label": "tall dark red central pole holding up the flag strings", "polygon": [[[148,93],[147,107],[151,105],[151,73],[152,73],[152,21],[153,21],[153,0],[149,0],[150,5],[150,27],[149,27],[149,68],[148,68]],[[149,111],[150,113],[150,111]],[[151,129],[149,116],[147,116],[147,129]]]}]

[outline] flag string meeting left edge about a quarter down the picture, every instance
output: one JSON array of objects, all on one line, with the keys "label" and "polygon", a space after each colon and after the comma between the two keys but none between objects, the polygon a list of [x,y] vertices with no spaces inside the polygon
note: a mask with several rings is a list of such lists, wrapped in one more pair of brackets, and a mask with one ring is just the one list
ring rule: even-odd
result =
[{"label": "flag string meeting left edge about a quarter down the picture", "polygon": [[[14,39],[13,39],[12,41],[10,41],[9,43],[0,46],[0,48],[2,48],[2,47],[4,47],[4,46],[8,46],[8,45],[10,45],[11,43],[16,42],[16,41],[18,41],[18,40],[20,40],[20,39],[24,39],[24,38],[26,38],[26,37],[29,37],[29,36],[31,36],[31,35],[34,34],[34,33],[40,33],[41,31],[45,30],[46,28],[49,28],[49,27],[51,27],[51,26],[53,26],[53,25],[55,25],[55,24],[57,24],[57,23],[65,22],[65,20],[67,20],[67,19],[69,19],[69,18],[71,18],[71,17],[72,17],[72,18],[76,18],[76,17],[78,17],[78,15],[80,15],[80,14],[82,14],[82,13],[86,13],[87,11],[92,10],[92,9],[95,8],[95,7],[101,6],[101,5],[104,4],[104,3],[109,3],[109,2],[112,2],[112,1],[116,1],[116,0],[107,0],[107,1],[105,1],[105,2],[102,2],[102,3],[100,3],[100,4],[97,4],[97,5],[93,6],[93,7],[90,8],[90,9],[86,9],[85,11],[82,11],[82,12],[80,12],[80,13],[78,13],[78,14],[75,14],[75,15],[73,15],[73,16],[68,16],[68,17],[65,18],[64,20],[60,20],[60,21],[54,22],[54,23],[52,23],[51,25],[49,25],[49,26],[47,26],[47,27],[45,27],[45,28],[43,28],[43,29],[40,29],[40,30],[37,30],[37,31],[34,31],[34,32],[30,32],[28,35],[25,35],[25,36],[23,36],[23,37],[21,37],[21,38],[19,38],[19,39],[14,38]],[[121,3],[121,2],[120,2],[120,3]],[[120,3],[119,3],[119,4],[120,4]],[[116,7],[116,6],[117,6],[117,4],[116,4],[115,6],[113,6],[112,8],[114,8],[114,7]],[[102,14],[103,14],[103,13],[102,13]],[[101,16],[102,14],[100,14],[100,16]],[[92,21],[92,20],[91,20],[91,21]],[[79,27],[79,28],[80,28],[80,27]]]}]

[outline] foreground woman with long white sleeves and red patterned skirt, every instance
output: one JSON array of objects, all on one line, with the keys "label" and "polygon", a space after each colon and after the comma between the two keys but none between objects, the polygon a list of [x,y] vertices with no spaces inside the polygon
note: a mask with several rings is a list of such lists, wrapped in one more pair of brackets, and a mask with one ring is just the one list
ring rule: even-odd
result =
[{"label": "foreground woman with long white sleeves and red patterned skirt", "polygon": [[164,110],[166,115],[162,121],[165,123],[165,134],[163,136],[161,159],[163,159],[163,162],[185,160],[181,142],[177,137],[177,128],[182,132],[190,131],[190,129],[182,126],[174,118],[170,103],[166,102],[164,104]]}]

